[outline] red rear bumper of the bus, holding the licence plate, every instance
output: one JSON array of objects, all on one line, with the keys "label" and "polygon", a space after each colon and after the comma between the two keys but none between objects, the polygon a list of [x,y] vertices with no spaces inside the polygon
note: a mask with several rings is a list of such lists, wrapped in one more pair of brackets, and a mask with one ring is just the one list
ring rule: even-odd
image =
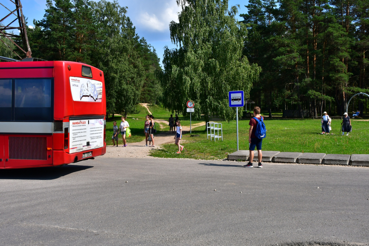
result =
[{"label": "red rear bumper of the bus, holding the licence plate", "polygon": [[[92,151],[92,156],[87,157],[87,158],[82,158],[82,154],[83,153],[87,153]],[[92,149],[92,150],[86,150],[83,152],[78,152],[78,153],[73,153],[73,154],[69,154],[63,150],[54,150],[53,152],[53,164],[54,166],[59,166],[59,165],[63,165],[63,164],[70,164],[70,163],[75,163],[77,160],[77,162],[81,161],[81,160],[87,160],[89,158],[92,157],[96,157],[96,156],[101,156],[104,155],[106,153],[106,143],[104,143],[104,147],[99,148],[99,149]],[[76,159],[77,157],[77,159]]]}]

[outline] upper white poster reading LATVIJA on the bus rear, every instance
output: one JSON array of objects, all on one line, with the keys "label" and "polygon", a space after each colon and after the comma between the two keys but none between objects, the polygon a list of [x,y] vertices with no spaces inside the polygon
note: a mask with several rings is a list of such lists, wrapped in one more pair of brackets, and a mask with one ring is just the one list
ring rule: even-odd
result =
[{"label": "upper white poster reading LATVIJA on the bus rear", "polygon": [[93,79],[69,77],[73,101],[101,102],[103,83]]}]

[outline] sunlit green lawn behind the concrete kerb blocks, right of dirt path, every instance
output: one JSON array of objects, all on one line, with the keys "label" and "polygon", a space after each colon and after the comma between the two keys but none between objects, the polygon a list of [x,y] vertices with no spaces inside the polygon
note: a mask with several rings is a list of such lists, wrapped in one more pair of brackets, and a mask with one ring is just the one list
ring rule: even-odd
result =
[{"label": "sunlit green lawn behind the concrete kerb blocks, right of dirt path", "polygon": [[[332,120],[332,131],[335,135],[321,135],[320,119],[265,119],[267,129],[263,139],[263,150],[280,152],[313,152],[327,154],[368,154],[369,153],[369,121],[352,120],[352,132],[349,136],[340,136],[340,119]],[[205,127],[194,128],[192,134],[200,137],[192,138],[184,134],[184,150],[177,155],[177,146],[164,145],[162,149],[152,152],[156,157],[182,157],[194,159],[224,159],[228,153],[236,151],[236,123],[223,123],[223,141],[207,140]],[[239,121],[239,149],[248,149],[249,119]]]}]

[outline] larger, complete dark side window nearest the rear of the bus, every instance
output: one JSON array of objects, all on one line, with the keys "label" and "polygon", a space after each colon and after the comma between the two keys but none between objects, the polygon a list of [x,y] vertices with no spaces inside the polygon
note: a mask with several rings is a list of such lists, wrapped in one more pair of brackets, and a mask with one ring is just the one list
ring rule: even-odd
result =
[{"label": "larger, complete dark side window nearest the rear of the bus", "polygon": [[52,121],[51,79],[14,80],[14,120]]}]

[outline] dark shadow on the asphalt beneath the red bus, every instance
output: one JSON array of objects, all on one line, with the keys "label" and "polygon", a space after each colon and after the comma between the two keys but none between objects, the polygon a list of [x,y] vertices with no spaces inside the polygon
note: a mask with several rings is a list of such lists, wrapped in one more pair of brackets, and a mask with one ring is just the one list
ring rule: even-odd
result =
[{"label": "dark shadow on the asphalt beneath the red bus", "polygon": [[0,170],[0,179],[52,180],[77,171],[86,170],[91,167],[93,166],[67,165],[25,169],[3,169]]}]

